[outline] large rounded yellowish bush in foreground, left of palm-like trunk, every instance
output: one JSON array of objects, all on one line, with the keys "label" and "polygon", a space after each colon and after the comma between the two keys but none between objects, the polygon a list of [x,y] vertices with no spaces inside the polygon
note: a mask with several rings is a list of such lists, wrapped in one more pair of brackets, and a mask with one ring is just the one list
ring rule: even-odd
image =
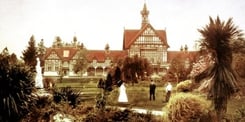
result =
[{"label": "large rounded yellowish bush in foreground, left of palm-like trunk", "polygon": [[210,102],[205,98],[190,93],[178,93],[167,104],[168,118],[172,122],[189,122],[206,116]]}]

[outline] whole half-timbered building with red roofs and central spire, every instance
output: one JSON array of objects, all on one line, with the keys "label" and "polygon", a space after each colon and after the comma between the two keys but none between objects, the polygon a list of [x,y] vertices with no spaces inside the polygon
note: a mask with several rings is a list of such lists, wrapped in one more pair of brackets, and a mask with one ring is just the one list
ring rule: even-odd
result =
[{"label": "whole half-timbered building with red roofs and central spire", "polygon": [[[122,50],[87,50],[88,69],[84,75],[105,75],[119,58],[138,55],[147,58],[158,72],[164,72],[170,65],[176,52],[168,51],[166,30],[155,29],[149,22],[149,10],[146,4],[140,11],[142,16],[140,29],[125,29],[123,33]],[[73,68],[78,59],[78,43],[53,44],[46,49],[44,56],[44,76],[67,77],[77,76]],[[188,65],[188,61],[187,61]]]}]

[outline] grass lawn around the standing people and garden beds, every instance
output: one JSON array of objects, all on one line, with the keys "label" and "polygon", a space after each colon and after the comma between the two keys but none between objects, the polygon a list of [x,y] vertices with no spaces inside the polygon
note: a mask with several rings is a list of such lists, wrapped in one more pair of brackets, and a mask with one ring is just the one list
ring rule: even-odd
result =
[{"label": "grass lawn around the standing people and garden beds", "polygon": [[[143,108],[148,110],[163,110],[165,109],[166,103],[163,102],[165,100],[165,84],[157,82],[156,83],[156,100],[150,101],[149,100],[149,82],[140,82],[138,84],[126,84],[126,92],[128,96],[128,104],[126,107],[133,107],[133,108]],[[94,92],[100,93],[100,89],[97,88],[97,82],[90,81],[90,82],[62,82],[57,83],[56,87],[65,87],[71,86],[82,90],[82,92]],[[172,95],[176,93],[176,84],[173,84],[173,92]],[[119,89],[117,87],[113,87],[113,91],[110,92],[107,98],[107,105],[108,106],[123,106],[117,102],[119,96]],[[205,97],[205,96],[204,96]],[[240,99],[231,98],[228,102],[227,106],[227,114],[233,115],[236,111],[244,104],[245,98],[241,97]],[[96,100],[91,99],[87,101],[87,103],[95,105]]]}]

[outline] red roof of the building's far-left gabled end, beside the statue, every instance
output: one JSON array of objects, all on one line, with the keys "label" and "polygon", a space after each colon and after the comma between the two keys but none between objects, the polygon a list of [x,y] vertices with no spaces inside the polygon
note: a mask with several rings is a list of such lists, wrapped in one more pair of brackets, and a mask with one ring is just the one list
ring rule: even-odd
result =
[{"label": "red roof of the building's far-left gabled end, beside the statue", "polygon": [[[67,57],[64,56],[64,51],[69,52]],[[58,55],[58,57],[60,58],[60,60],[69,61],[73,58],[73,56],[76,54],[77,51],[78,51],[78,49],[74,48],[74,47],[60,47],[60,48],[52,48],[51,47],[51,48],[47,48],[44,59],[47,59],[52,52],[55,52]]]}]

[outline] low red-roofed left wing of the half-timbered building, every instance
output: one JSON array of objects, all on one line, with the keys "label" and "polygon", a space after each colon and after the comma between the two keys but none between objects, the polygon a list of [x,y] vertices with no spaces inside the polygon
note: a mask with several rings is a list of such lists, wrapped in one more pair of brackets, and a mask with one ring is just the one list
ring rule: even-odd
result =
[{"label": "low red-roofed left wing of the half-timbered building", "polygon": [[[79,76],[74,72],[74,66],[79,59],[79,48],[76,46],[51,47],[46,49],[44,56],[44,76]],[[88,68],[84,75],[106,75],[109,69],[117,59],[125,57],[124,51],[116,50],[88,50],[86,52]]]}]

